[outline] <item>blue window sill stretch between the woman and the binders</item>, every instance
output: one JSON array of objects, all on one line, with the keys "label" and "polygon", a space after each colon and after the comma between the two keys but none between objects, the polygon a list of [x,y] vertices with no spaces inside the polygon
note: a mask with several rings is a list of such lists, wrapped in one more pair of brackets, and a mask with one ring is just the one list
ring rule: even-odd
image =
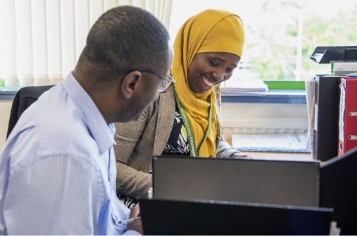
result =
[{"label": "blue window sill stretch between the woman and the binders", "polygon": [[222,102],[306,104],[306,92],[305,89],[270,89],[263,97],[226,95],[223,93]]}]

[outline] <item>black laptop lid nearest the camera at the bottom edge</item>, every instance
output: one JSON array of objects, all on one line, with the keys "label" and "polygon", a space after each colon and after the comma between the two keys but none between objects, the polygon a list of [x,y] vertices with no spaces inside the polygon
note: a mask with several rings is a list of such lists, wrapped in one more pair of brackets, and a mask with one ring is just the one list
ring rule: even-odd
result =
[{"label": "black laptop lid nearest the camera at the bottom edge", "polygon": [[144,235],[329,235],[332,209],[139,199]]}]

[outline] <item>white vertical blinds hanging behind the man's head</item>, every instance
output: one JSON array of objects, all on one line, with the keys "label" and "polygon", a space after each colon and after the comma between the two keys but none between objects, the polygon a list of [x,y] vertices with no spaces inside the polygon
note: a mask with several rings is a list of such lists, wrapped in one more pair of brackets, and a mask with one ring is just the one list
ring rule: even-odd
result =
[{"label": "white vertical blinds hanging behind the man's head", "polygon": [[75,68],[90,27],[115,6],[138,6],[168,29],[173,0],[1,0],[0,79],[57,85]]}]

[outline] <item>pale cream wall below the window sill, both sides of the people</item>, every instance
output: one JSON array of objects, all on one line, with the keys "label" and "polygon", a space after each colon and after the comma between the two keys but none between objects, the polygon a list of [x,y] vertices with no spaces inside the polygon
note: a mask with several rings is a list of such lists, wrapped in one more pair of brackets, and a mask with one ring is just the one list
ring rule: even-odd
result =
[{"label": "pale cream wall below the window sill, both sides of the people", "polygon": [[[0,149],[4,147],[12,100],[0,99]],[[222,104],[225,138],[232,134],[306,132],[306,104]]]}]

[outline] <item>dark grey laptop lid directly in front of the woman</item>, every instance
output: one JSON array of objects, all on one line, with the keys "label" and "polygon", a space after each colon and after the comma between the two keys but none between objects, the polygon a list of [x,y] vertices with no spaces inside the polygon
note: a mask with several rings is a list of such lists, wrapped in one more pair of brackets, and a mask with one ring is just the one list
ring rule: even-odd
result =
[{"label": "dark grey laptop lid directly in front of the woman", "polygon": [[319,206],[318,161],[153,156],[154,199]]}]

